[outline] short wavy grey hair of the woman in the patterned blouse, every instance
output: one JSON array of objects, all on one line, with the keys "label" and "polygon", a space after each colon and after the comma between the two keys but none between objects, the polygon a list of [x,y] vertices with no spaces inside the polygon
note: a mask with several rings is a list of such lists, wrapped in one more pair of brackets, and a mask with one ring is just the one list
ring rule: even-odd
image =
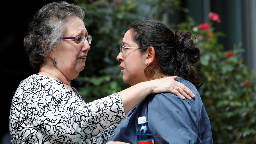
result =
[{"label": "short wavy grey hair of the woman in the patterned blouse", "polygon": [[84,20],[84,11],[75,4],[59,1],[49,3],[36,12],[24,38],[24,48],[33,68],[39,68],[52,48],[62,41],[65,22],[70,17]]}]

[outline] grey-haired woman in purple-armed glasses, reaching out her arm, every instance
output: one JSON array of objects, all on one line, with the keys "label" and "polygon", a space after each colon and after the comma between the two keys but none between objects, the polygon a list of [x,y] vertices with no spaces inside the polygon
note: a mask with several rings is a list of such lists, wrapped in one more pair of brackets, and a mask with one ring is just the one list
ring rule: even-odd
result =
[{"label": "grey-haired woman in purple-armed glasses, reaching out her arm", "polygon": [[24,46],[39,73],[24,79],[14,94],[9,117],[12,143],[95,143],[89,138],[125,119],[150,93],[193,97],[187,87],[169,77],[85,103],[70,85],[84,69],[92,41],[83,19],[79,6],[64,1],[49,3],[36,13]]}]

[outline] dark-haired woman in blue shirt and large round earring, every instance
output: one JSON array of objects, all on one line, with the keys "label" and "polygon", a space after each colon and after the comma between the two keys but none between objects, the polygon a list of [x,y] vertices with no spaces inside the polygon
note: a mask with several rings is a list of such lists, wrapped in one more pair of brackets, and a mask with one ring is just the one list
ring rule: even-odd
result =
[{"label": "dark-haired woman in blue shirt and large round earring", "polygon": [[211,144],[211,125],[196,87],[202,84],[196,74],[201,52],[190,33],[173,33],[155,20],[135,21],[125,33],[117,60],[123,81],[135,85],[143,81],[177,75],[195,94],[182,100],[171,93],[149,94],[120,122],[108,141],[138,143],[137,118],[146,116],[155,143]]}]

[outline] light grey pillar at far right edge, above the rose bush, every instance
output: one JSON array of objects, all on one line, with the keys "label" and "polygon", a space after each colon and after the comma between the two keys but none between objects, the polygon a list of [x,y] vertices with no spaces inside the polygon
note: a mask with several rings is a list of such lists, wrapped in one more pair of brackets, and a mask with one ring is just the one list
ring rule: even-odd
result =
[{"label": "light grey pillar at far right edge, above the rose bush", "polygon": [[256,0],[242,1],[242,27],[245,64],[256,72]]}]

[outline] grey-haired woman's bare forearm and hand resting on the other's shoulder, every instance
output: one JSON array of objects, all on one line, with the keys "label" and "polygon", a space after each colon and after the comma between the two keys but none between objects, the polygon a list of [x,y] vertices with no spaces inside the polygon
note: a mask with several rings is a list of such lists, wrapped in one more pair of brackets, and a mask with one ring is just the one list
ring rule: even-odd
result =
[{"label": "grey-haired woman's bare forearm and hand resting on the other's shoulder", "polygon": [[184,84],[177,82],[174,77],[155,79],[141,82],[119,92],[124,111],[127,113],[150,93],[169,92],[182,99],[195,97],[192,91]]}]

